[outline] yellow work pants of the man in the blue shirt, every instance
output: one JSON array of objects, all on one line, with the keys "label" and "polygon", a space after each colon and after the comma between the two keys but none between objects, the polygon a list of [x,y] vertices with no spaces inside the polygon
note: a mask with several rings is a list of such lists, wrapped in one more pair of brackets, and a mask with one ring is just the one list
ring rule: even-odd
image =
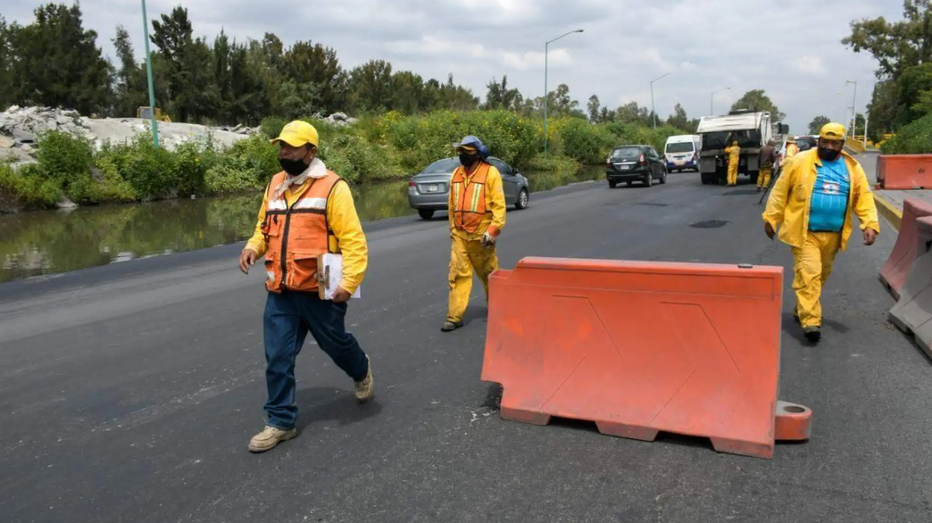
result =
[{"label": "yellow work pants of the man in the blue shirt", "polygon": [[840,233],[810,232],[802,248],[793,248],[793,290],[796,291],[796,314],[803,328],[822,326],[819,297],[841,245]]}]

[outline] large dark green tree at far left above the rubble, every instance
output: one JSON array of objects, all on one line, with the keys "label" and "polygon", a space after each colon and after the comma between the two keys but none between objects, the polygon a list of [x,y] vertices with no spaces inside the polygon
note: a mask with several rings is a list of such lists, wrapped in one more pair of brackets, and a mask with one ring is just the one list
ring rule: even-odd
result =
[{"label": "large dark green tree at far left above the rubble", "polygon": [[3,59],[9,82],[5,98],[22,105],[66,107],[84,114],[110,105],[113,68],[97,47],[97,34],[85,31],[75,4],[48,4],[34,10],[26,26],[4,24]]}]

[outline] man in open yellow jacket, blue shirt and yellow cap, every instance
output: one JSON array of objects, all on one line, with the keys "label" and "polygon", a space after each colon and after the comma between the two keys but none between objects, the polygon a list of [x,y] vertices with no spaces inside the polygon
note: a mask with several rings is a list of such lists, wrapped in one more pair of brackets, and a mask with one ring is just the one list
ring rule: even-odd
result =
[{"label": "man in open yellow jacket, blue shirt and yellow cap", "polygon": [[[777,178],[763,212],[764,232],[792,248],[793,315],[810,342],[821,339],[819,298],[835,255],[844,250],[857,215],[864,245],[880,234],[877,208],[864,169],[843,152],[844,127],[826,124],[818,147],[797,154]],[[779,233],[776,233],[779,231]]]}]

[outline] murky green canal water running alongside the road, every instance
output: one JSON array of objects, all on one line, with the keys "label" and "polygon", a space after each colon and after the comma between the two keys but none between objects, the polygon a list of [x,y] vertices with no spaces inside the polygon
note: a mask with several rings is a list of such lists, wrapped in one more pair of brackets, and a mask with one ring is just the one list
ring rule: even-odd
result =
[{"label": "murky green canal water running alongside the road", "polygon": [[[583,168],[525,176],[536,193],[605,173]],[[352,191],[363,221],[416,214],[408,207],[407,181],[354,185]],[[253,234],[261,201],[261,193],[235,194],[0,216],[0,282],[243,241]]]}]

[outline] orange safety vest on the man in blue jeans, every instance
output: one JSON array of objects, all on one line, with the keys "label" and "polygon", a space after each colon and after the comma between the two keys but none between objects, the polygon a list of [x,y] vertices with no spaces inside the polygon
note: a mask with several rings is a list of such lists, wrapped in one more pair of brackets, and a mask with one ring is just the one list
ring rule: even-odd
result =
[{"label": "orange safety vest on the man in blue jeans", "polygon": [[[268,184],[266,195],[272,187],[285,181],[286,174],[276,174]],[[278,199],[268,199],[266,220],[262,222],[262,234],[266,236],[266,288],[269,292],[283,289],[298,291],[317,290],[317,257],[326,252],[337,252],[331,248],[334,232],[327,223],[327,202],[336,183],[341,181],[336,173],[328,170],[323,178],[310,179],[308,187],[288,206],[285,194]]]}]

